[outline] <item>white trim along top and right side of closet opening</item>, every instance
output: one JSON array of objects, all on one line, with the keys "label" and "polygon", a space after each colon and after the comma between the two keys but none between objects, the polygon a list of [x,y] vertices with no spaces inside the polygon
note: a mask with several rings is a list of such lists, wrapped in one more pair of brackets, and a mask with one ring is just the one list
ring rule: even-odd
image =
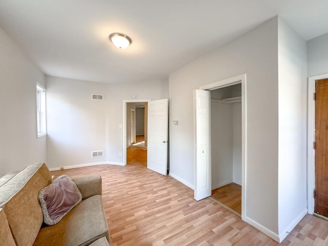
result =
[{"label": "white trim along top and right side of closet opening", "polygon": [[246,107],[246,74],[224,79],[209,85],[199,87],[199,90],[215,90],[227,86],[241,84],[241,219],[246,218],[246,188],[247,188],[247,107]]}]

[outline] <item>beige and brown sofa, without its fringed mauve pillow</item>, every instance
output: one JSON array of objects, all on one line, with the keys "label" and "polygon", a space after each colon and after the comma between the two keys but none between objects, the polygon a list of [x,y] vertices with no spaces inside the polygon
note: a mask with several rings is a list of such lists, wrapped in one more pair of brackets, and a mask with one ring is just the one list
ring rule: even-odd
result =
[{"label": "beige and brown sofa, without its fringed mauve pillow", "polygon": [[51,183],[45,164],[0,178],[1,245],[109,245],[109,232],[101,200],[101,177],[72,179],[82,201],[54,226],[43,226],[39,191]]}]

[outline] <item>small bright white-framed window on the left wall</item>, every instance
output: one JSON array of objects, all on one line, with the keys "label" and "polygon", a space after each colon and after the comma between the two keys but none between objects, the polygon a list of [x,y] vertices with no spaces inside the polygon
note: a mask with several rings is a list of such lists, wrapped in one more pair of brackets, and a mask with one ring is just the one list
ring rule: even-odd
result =
[{"label": "small bright white-framed window on the left wall", "polygon": [[47,135],[46,89],[39,85],[36,85],[36,122],[37,137]]}]

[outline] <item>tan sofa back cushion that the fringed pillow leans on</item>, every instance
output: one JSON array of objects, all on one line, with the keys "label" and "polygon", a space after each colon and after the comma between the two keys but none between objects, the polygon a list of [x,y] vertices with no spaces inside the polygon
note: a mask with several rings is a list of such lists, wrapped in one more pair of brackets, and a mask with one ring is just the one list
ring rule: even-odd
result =
[{"label": "tan sofa back cushion that the fringed pillow leans on", "polygon": [[18,246],[33,244],[43,222],[37,196],[50,182],[49,169],[40,163],[19,171],[0,187],[0,207]]}]

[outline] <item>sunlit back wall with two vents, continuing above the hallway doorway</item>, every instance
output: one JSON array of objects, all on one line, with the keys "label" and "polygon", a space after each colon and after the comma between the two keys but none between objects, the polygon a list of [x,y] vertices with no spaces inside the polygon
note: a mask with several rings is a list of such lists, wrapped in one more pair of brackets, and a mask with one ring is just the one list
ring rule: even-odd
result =
[{"label": "sunlit back wall with two vents, continuing above the hallway doorway", "polygon": [[[92,163],[122,164],[123,100],[168,98],[167,81],[101,84],[47,76],[48,163],[50,168]],[[91,100],[103,94],[103,101]],[[91,151],[104,150],[104,157]]]}]

